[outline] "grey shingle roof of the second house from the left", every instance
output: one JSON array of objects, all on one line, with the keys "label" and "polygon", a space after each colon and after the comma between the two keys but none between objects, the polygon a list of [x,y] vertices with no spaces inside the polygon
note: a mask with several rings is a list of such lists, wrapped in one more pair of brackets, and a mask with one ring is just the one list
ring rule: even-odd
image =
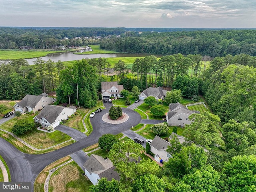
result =
[{"label": "grey shingle roof of the second house from the left", "polygon": [[[41,110],[41,112],[37,116],[35,116],[35,118],[38,118],[38,120],[40,120],[43,117],[50,124],[52,124],[53,122],[55,122],[56,118],[61,114],[64,108],[65,107],[62,107],[62,106],[46,105]],[[71,106],[69,108],[71,108]]]}]

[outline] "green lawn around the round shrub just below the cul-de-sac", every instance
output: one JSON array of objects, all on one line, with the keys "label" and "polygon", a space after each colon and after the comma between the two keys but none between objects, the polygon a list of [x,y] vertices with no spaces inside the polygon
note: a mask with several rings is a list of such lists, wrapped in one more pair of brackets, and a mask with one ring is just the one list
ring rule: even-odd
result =
[{"label": "green lawn around the round shrub just below the cul-de-sac", "polygon": [[[153,125],[146,125],[146,127],[143,129],[143,130],[140,130],[138,131],[137,133],[140,134],[141,136],[143,136],[144,138],[146,139],[154,139],[156,134],[153,133],[152,130],[150,130],[150,128],[152,127]],[[169,126],[169,130],[168,130],[168,133],[165,134],[165,135],[160,135],[161,138],[166,138],[166,137],[169,137],[172,133],[172,130],[173,130],[173,126]],[[177,127],[177,134],[178,135],[182,135],[184,129],[183,128],[180,128],[180,127]]]}]

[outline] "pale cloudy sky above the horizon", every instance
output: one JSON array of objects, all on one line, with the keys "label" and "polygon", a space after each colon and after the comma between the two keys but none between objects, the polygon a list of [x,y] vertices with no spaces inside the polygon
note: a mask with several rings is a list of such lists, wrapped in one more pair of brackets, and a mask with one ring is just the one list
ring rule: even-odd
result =
[{"label": "pale cloudy sky above the horizon", "polygon": [[256,0],[0,0],[0,26],[256,28]]}]

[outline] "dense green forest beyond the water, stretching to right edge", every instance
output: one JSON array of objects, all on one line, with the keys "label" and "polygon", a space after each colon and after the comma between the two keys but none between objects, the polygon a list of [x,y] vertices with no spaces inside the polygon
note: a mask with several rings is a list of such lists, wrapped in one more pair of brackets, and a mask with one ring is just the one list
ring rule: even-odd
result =
[{"label": "dense green forest beyond the water, stretching to right edge", "polygon": [[200,54],[213,58],[240,53],[256,56],[256,30],[134,33],[133,36],[102,39],[100,48],[137,54]]}]

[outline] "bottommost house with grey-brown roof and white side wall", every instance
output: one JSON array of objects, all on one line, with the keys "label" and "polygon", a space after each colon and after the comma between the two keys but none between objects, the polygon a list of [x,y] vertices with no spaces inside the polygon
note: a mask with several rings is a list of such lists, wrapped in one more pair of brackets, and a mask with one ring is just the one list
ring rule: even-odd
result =
[{"label": "bottommost house with grey-brown roof and white side wall", "polygon": [[115,171],[115,167],[109,159],[92,154],[84,163],[84,172],[92,184],[97,184],[98,180],[105,177],[108,181],[113,178],[120,180],[119,174]]}]

